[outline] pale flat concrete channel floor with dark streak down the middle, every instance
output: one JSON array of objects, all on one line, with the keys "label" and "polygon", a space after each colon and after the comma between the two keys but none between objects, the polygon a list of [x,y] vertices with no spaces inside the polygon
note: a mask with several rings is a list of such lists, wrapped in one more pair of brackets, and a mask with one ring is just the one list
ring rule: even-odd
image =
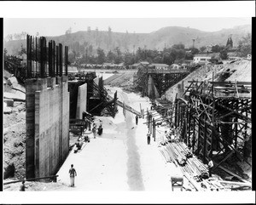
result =
[{"label": "pale flat concrete channel floor with dark streak down the middle", "polygon": [[[137,111],[140,104],[144,110],[150,107],[149,100],[137,94],[125,93],[120,88],[108,90],[111,95],[118,90],[119,100]],[[120,107],[116,117],[96,119],[103,122],[103,134],[96,139],[89,134],[90,143],[82,151],[70,152],[57,173],[58,182],[70,185],[68,170],[73,164],[78,175],[70,191],[172,191],[171,174],[179,170],[163,160],[158,139],[147,144],[145,119],[139,118],[136,125],[135,115],[126,111],[124,117]]]}]

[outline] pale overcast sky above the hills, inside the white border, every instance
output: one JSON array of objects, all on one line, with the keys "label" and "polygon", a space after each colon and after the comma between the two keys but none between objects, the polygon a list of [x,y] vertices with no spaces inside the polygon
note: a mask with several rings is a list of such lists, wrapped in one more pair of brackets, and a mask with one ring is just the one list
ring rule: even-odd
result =
[{"label": "pale overcast sky above the hills, inside the white border", "polygon": [[9,33],[26,31],[31,35],[39,32],[40,36],[59,36],[65,34],[69,27],[72,32],[86,31],[98,27],[99,31],[148,33],[165,26],[189,26],[201,31],[219,31],[223,28],[251,24],[251,18],[116,18],[116,19],[5,19],[4,37]]}]

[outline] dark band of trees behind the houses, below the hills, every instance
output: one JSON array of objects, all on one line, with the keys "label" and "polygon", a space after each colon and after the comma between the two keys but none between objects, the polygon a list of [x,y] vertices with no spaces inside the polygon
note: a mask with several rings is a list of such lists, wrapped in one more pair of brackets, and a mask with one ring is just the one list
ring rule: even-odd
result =
[{"label": "dark band of trees behind the houses, below the hills", "polygon": [[68,55],[68,60],[76,64],[119,64],[124,62],[125,65],[132,65],[139,61],[148,61],[149,63],[172,65],[183,60],[193,60],[194,54],[199,53],[197,48],[185,49],[182,43],[174,44],[171,48],[164,48],[161,51],[139,47],[134,52],[128,50],[122,52],[119,47],[116,47],[109,50],[108,53],[105,53],[102,48],[96,48],[96,54],[92,54],[92,46],[90,45],[89,48],[85,49],[84,54],[73,49]]}]

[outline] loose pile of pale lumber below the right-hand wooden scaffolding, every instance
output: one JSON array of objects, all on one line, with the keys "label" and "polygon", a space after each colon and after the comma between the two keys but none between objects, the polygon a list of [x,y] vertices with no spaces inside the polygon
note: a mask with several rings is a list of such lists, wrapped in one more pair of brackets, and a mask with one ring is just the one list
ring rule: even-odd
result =
[{"label": "loose pile of pale lumber below the right-hand wooden scaffolding", "polygon": [[242,182],[224,181],[219,179],[209,178],[207,165],[201,162],[200,159],[192,154],[189,155],[189,149],[183,142],[168,142],[162,140],[160,153],[166,162],[173,162],[179,167],[183,173],[183,177],[189,182],[189,185],[184,183],[183,188],[191,191],[243,191],[251,189],[251,183],[245,180]]}]

